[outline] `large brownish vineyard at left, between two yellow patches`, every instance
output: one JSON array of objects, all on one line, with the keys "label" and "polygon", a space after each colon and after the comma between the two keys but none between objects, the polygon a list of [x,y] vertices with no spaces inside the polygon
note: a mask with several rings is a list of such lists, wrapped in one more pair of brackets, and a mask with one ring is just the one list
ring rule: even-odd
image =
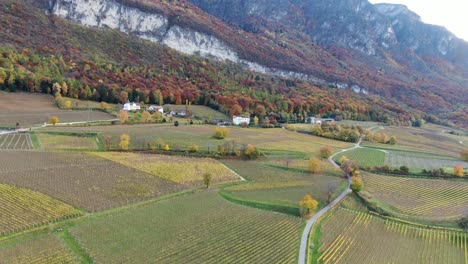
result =
[{"label": "large brownish vineyard at left, between two yellow patches", "polygon": [[0,152],[0,167],[1,183],[41,192],[89,211],[187,188],[84,153]]}]

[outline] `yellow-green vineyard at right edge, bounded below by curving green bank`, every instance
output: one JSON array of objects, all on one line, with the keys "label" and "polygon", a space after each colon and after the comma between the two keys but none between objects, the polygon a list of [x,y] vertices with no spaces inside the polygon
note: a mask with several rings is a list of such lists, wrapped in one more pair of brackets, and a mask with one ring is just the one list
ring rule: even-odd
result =
[{"label": "yellow-green vineyard at right edge, bounded below by curving green bank", "polygon": [[395,213],[428,219],[456,219],[468,208],[468,182],[365,173],[364,190]]}]

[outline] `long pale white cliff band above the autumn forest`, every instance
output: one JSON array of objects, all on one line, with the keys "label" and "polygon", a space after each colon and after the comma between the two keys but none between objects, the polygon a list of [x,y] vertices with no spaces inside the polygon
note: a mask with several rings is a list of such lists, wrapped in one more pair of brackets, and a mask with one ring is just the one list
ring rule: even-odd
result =
[{"label": "long pale white cliff band above the autumn forest", "polygon": [[200,55],[217,60],[229,60],[260,73],[301,78],[317,83],[323,80],[313,76],[265,67],[241,59],[228,44],[213,35],[169,22],[164,14],[146,12],[113,0],[56,0],[49,1],[49,12],[85,26],[116,29],[121,32],[166,45],[179,52]]}]

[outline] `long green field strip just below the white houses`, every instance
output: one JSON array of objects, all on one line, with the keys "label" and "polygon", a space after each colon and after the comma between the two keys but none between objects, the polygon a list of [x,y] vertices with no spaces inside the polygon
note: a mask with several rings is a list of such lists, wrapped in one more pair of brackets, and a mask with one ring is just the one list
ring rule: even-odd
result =
[{"label": "long green field strip just below the white houses", "polygon": [[347,148],[351,144],[311,135],[305,135],[285,129],[247,129],[229,127],[229,136],[225,140],[216,140],[212,136],[216,126],[181,125],[174,127],[166,125],[133,125],[133,126],[95,126],[95,127],[47,127],[46,131],[77,131],[101,132],[102,136],[112,138],[112,148],[118,149],[121,134],[130,136],[131,149],[148,149],[157,140],[169,144],[171,149],[188,149],[196,144],[201,150],[216,150],[218,145],[231,141],[240,144],[254,144],[267,154],[303,153],[303,155],[318,155],[322,146],[334,149]]}]

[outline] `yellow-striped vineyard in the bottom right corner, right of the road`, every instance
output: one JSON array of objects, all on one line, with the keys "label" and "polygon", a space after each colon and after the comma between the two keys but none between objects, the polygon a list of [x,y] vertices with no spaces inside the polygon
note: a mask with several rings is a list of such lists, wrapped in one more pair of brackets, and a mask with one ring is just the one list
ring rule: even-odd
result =
[{"label": "yellow-striped vineyard in the bottom right corner, right of the road", "polygon": [[468,234],[338,208],[322,224],[318,263],[468,264]]}]

